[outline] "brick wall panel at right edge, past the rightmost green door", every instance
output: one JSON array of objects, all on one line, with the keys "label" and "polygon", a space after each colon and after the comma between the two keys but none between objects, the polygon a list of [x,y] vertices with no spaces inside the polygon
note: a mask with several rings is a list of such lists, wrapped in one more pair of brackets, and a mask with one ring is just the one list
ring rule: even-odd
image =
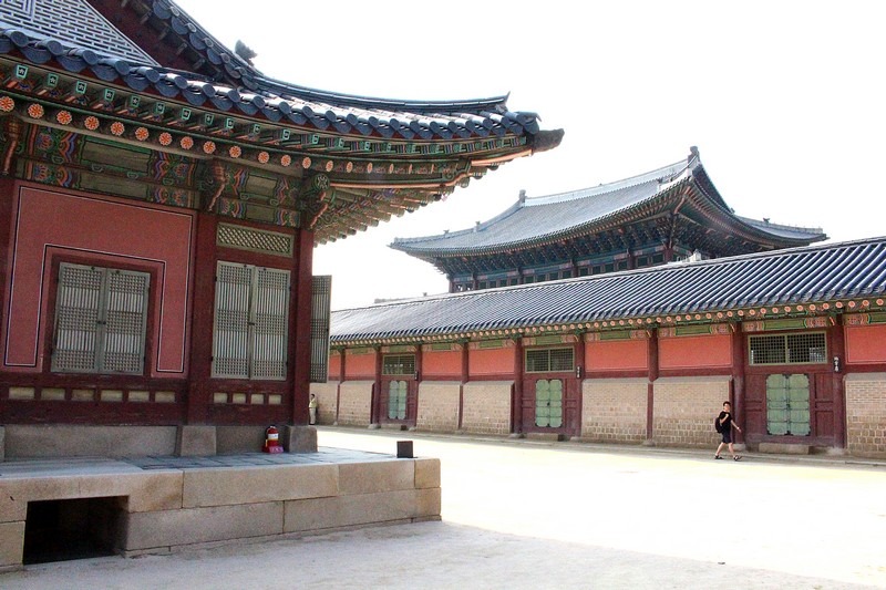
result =
[{"label": "brick wall panel at right edge, past the rightmost green door", "polygon": [[886,458],[886,373],[855,373],[844,383],[847,451]]}]

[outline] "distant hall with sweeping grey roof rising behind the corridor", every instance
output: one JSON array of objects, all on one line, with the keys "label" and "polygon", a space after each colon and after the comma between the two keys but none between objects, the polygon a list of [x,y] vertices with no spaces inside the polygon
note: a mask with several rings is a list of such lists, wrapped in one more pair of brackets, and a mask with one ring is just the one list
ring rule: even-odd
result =
[{"label": "distant hall with sweeping grey roof rising behind the corridor", "polygon": [[434,265],[450,292],[568,279],[721,258],[825,239],[804,229],[736,216],[698,149],[656,170],[559,195],[526,198],[484,224],[391,245]]}]

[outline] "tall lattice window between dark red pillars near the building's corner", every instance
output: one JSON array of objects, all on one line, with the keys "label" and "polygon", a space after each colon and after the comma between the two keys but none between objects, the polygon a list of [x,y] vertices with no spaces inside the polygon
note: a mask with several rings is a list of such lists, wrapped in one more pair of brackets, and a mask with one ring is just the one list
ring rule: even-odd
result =
[{"label": "tall lattice window between dark red pillars near the building's corner", "polygon": [[218,262],[213,376],[285,380],[289,271]]}]

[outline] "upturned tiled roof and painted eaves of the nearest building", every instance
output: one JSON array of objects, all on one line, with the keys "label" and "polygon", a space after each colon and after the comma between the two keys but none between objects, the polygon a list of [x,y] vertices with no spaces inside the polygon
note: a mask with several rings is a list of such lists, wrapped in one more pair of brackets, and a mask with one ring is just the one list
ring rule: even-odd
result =
[{"label": "upturned tiled roof and painted eaves of the nearest building", "polygon": [[[396,101],[272,80],[168,0],[3,2],[0,79],[3,174],[310,229],[316,244],[563,135],[506,96]],[[153,188],[125,194],[133,178]]]}]

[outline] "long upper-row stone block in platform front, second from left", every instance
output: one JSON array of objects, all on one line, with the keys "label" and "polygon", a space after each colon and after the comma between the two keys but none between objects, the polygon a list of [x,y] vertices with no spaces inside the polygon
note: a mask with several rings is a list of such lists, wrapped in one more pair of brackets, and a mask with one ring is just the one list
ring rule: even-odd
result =
[{"label": "long upper-row stone block in platform front, second from left", "polygon": [[338,494],[336,465],[190,469],[184,474],[183,506],[185,508],[227,506],[316,498],[336,494]]}]

